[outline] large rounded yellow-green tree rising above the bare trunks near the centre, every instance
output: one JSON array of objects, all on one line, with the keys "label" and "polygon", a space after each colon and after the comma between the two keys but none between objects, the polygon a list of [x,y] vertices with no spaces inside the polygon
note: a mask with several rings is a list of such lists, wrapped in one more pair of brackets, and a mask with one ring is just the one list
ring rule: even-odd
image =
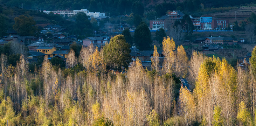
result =
[{"label": "large rounded yellow-green tree rising above the bare trunks near the centre", "polygon": [[110,39],[109,44],[103,48],[104,60],[110,68],[120,70],[123,66],[128,68],[131,61],[130,44],[126,43],[124,35],[116,35]]}]

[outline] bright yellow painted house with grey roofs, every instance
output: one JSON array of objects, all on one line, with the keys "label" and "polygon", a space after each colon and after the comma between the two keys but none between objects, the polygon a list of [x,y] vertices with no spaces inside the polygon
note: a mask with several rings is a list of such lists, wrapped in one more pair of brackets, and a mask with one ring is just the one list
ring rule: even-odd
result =
[{"label": "bright yellow painted house with grey roofs", "polygon": [[38,47],[36,50],[37,52],[42,52],[43,54],[46,54],[47,58],[53,57],[55,55],[61,55],[65,58],[67,58],[68,51],[56,51],[57,48],[55,47]]}]

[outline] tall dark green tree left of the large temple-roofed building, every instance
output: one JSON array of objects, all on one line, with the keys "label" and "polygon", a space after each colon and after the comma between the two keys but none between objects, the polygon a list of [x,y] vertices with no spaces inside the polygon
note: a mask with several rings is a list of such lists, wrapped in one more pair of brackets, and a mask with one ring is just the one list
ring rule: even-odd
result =
[{"label": "tall dark green tree left of the large temple-roofed building", "polygon": [[134,43],[139,50],[151,50],[151,33],[145,22],[140,22],[134,31]]}]

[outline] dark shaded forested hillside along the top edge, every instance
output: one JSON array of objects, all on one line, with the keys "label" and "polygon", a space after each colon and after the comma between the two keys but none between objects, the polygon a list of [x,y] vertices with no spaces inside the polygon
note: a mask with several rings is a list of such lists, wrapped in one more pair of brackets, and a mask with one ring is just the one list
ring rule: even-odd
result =
[{"label": "dark shaded forested hillside along the top edge", "polygon": [[[24,9],[90,9],[91,12],[109,12],[111,15],[123,15],[139,13],[136,8],[145,12],[155,10],[157,13],[167,12],[167,10],[183,10],[184,12],[194,12],[201,8],[230,7],[250,4],[254,0],[1,0],[2,4],[11,7],[22,7]],[[118,10],[118,11],[116,11]],[[160,15],[161,16],[161,15]]]}]

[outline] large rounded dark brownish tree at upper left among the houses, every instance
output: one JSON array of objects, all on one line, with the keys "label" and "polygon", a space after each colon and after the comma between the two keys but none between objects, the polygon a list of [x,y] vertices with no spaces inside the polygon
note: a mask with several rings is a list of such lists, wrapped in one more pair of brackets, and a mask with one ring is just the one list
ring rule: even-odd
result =
[{"label": "large rounded dark brownish tree at upper left among the houses", "polygon": [[15,24],[13,29],[21,36],[33,36],[37,31],[36,22],[33,17],[27,17],[20,15],[19,17],[14,18]]}]

